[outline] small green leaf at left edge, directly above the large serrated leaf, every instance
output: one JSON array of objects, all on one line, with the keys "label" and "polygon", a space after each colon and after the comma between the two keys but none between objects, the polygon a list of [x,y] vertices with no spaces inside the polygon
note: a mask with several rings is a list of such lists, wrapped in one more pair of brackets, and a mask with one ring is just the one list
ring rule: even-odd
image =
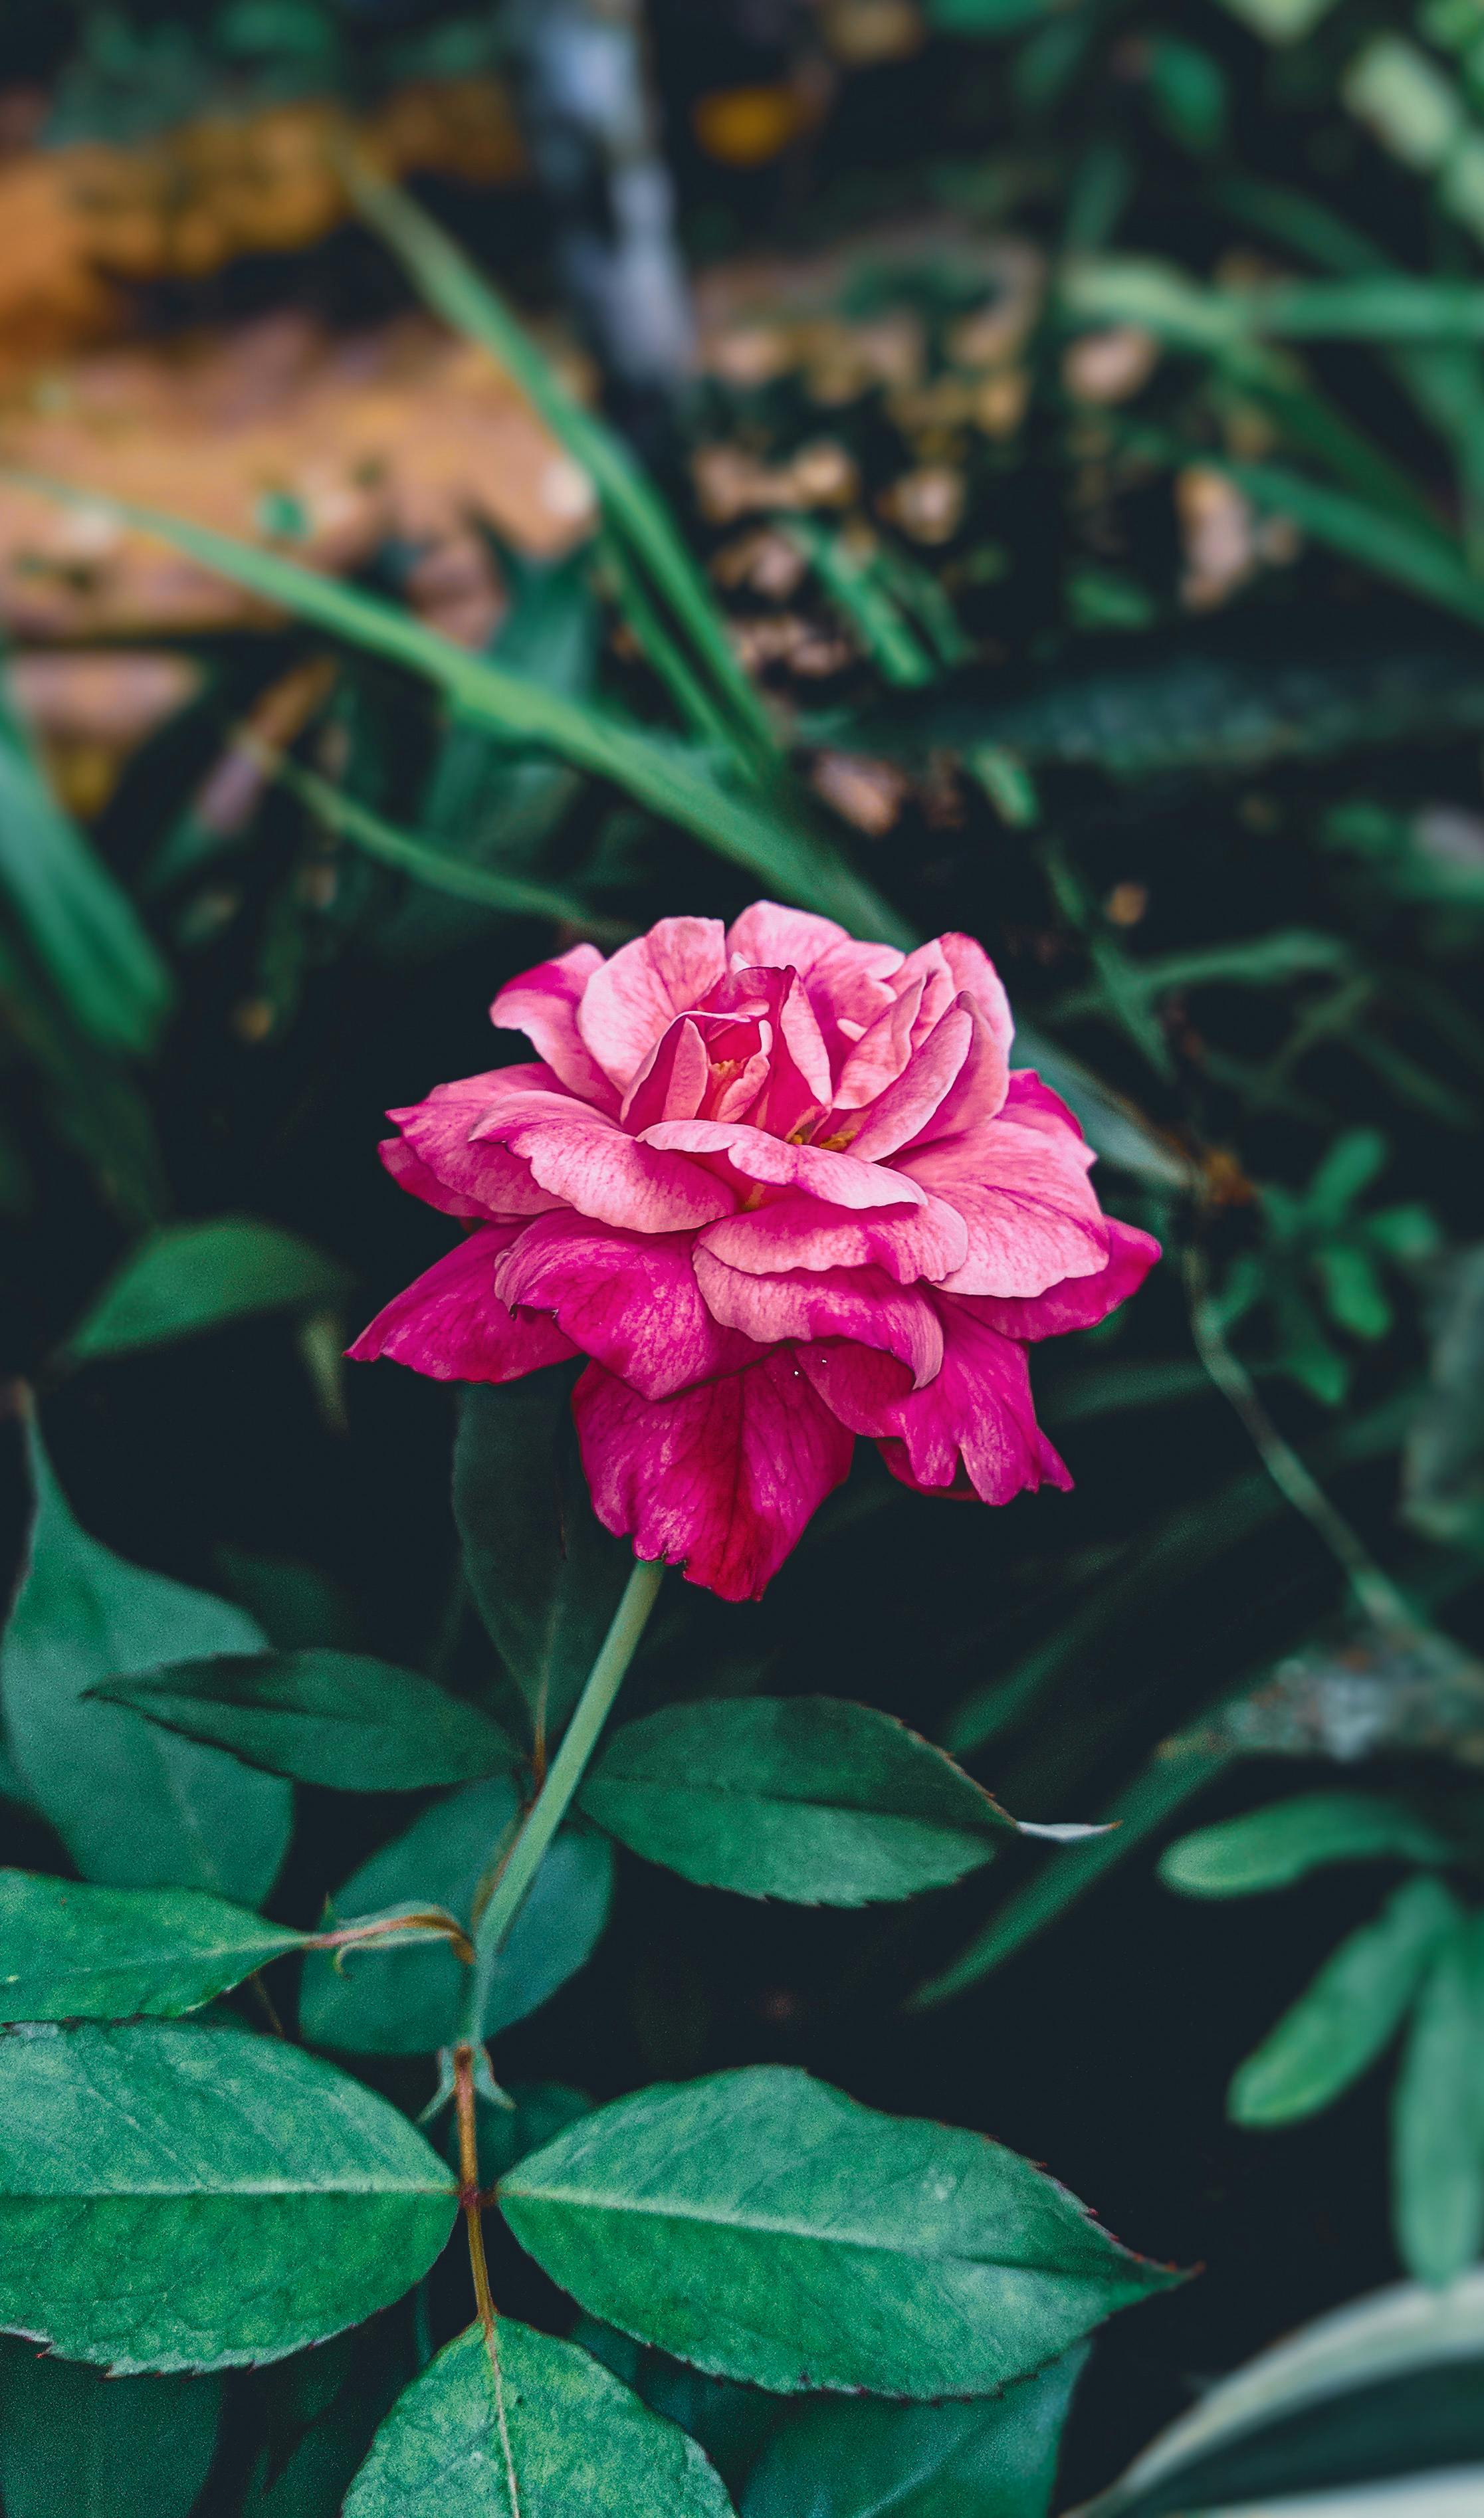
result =
[{"label": "small green leaf at left edge, directly above the large serrated leaf", "polygon": [[176,2019],[302,1946],[302,1931],[199,1888],[0,1871],[0,2022]]}]

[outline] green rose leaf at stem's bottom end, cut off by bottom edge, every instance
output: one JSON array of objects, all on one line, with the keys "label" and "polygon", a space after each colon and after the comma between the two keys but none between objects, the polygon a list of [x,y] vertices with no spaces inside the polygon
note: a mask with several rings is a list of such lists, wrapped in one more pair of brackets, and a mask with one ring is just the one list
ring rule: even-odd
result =
[{"label": "green rose leaf at stem's bottom end, cut off by bottom edge", "polygon": [[517,2500],[489,2352],[469,2327],[393,2405],[345,2518],[728,2518],[695,2440],[577,2344],[501,2317],[496,2349]]}]

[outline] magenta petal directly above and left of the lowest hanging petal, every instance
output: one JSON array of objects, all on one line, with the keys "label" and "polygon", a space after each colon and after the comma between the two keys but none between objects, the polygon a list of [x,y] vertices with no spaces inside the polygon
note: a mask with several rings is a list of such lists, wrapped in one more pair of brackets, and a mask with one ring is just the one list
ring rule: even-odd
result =
[{"label": "magenta petal directly above and left of the lowest hanging petal", "polygon": [[511,1241],[494,1284],[501,1302],[552,1312],[585,1355],[663,1400],[758,1357],[705,1309],[690,1249],[690,1234],[622,1234],[562,1211]]}]

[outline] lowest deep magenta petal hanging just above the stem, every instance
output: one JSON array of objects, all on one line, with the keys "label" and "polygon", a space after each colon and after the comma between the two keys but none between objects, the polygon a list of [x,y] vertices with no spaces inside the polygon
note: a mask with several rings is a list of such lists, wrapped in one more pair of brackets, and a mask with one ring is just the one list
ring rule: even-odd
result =
[{"label": "lowest deep magenta petal hanging just above the stem", "polygon": [[761,1599],[854,1448],[786,1347],[673,1400],[590,1365],[572,1415],[597,1518],[721,1599]]}]

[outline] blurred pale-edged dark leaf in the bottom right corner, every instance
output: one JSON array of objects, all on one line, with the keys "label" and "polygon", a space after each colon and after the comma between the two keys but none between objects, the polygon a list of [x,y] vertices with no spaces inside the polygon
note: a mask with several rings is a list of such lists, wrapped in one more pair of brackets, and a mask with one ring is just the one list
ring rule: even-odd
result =
[{"label": "blurred pale-edged dark leaf in the bottom right corner", "polygon": [[[1466,2274],[1444,2294],[1403,2281],[1300,2327],[1207,2390],[1081,2518],[1247,2508],[1270,2493],[1303,2493],[1298,2508],[1320,2518],[1330,2503],[1310,2493],[1456,2470],[1476,2458],[1484,2458],[1484,2274]],[[1426,2505],[1401,2485],[1396,2503],[1378,2493],[1358,2500],[1356,2518],[1366,2508],[1421,2518]],[[1454,2500],[1449,2513],[1464,2505]]]}]

